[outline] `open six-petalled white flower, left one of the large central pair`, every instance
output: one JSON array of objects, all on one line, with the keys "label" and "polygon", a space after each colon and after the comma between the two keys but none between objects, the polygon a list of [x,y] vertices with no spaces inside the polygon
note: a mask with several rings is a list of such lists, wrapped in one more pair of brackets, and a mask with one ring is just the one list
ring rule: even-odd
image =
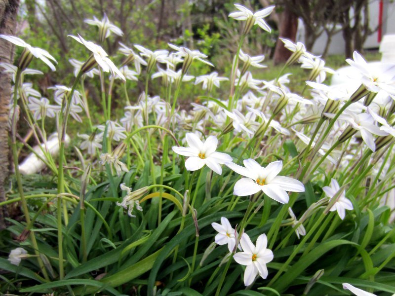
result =
[{"label": "open six-petalled white flower, left one of the large central pair", "polygon": [[189,147],[173,146],[173,151],[180,155],[189,156],[185,161],[185,167],[188,171],[196,171],[207,165],[218,175],[221,175],[220,164],[232,161],[230,155],[215,151],[218,145],[218,139],[215,136],[207,137],[203,143],[194,133],[187,133],[186,140]]}]

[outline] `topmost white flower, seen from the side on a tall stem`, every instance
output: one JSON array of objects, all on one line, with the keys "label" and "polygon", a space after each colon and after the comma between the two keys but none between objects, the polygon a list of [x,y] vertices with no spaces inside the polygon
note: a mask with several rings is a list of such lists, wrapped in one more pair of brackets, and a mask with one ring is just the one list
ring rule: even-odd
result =
[{"label": "topmost white flower, seen from the side on a tall stem", "polygon": [[275,9],[275,6],[268,6],[264,9],[258,10],[255,13],[253,13],[251,10],[244,7],[243,5],[235,4],[235,6],[239,11],[234,11],[230,13],[229,17],[234,18],[238,21],[246,21],[244,27],[244,34],[247,34],[252,26],[256,24],[263,30],[267,32],[272,32],[272,29],[270,29],[269,25],[264,21],[263,18],[271,14],[272,11]]}]

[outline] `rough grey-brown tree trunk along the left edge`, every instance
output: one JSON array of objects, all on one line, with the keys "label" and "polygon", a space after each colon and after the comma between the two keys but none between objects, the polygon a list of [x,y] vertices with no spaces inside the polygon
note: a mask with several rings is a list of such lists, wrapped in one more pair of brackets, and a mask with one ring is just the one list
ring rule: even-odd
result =
[{"label": "rough grey-brown tree trunk along the left edge", "polygon": [[[19,0],[0,0],[0,34],[14,35]],[[12,63],[12,43],[0,39],[0,63]],[[8,177],[8,105],[11,97],[11,76],[0,72],[0,202],[5,201],[5,184]],[[0,207],[0,229],[5,228],[8,212]]]}]

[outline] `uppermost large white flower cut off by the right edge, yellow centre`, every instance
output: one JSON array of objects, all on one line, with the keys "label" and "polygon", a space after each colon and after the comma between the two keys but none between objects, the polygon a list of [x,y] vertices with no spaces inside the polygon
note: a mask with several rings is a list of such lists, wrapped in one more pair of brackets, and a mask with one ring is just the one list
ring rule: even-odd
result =
[{"label": "uppermost large white flower cut off by the right edge, yellow centre", "polygon": [[346,62],[362,75],[361,82],[366,89],[371,92],[379,92],[382,89],[391,95],[395,95],[394,64],[368,64],[356,51],[354,51],[353,58],[354,61],[347,59]]}]

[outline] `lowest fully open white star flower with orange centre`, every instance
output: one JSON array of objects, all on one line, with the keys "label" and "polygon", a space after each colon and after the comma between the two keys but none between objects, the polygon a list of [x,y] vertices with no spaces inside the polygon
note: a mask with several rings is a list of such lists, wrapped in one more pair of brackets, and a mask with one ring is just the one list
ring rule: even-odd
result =
[{"label": "lowest fully open white star flower with orange centre", "polygon": [[243,252],[236,253],[233,258],[241,265],[246,265],[244,271],[244,285],[251,285],[255,277],[259,274],[263,279],[268,277],[266,264],[273,260],[272,250],[266,249],[268,238],[266,234],[261,234],[256,240],[256,246],[246,233],[243,233],[240,240]]}]

